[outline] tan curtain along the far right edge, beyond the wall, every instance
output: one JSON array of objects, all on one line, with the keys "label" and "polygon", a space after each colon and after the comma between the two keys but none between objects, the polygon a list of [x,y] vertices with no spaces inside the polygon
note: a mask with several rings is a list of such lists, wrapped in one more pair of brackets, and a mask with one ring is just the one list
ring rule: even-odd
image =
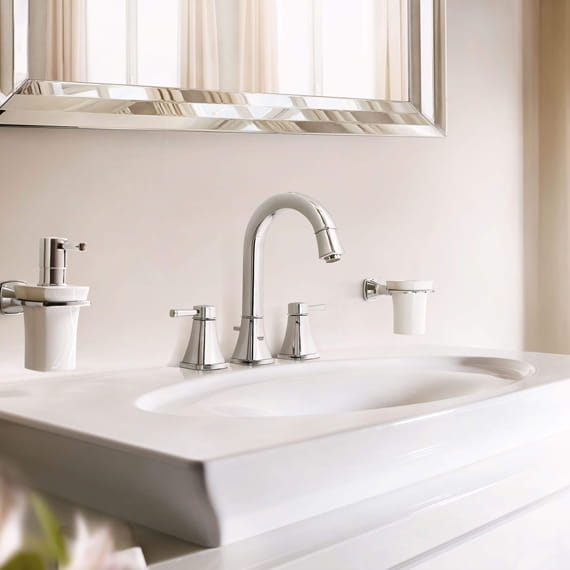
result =
[{"label": "tan curtain along the far right edge, beyond the wall", "polygon": [[570,353],[570,2],[541,0],[540,348]]}]

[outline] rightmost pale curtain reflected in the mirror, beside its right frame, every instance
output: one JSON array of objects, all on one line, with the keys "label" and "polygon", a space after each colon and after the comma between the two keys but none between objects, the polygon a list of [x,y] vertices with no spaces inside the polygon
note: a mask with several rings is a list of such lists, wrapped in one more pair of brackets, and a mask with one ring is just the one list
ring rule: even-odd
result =
[{"label": "rightmost pale curtain reflected in the mirror, beside its right frame", "polygon": [[373,0],[376,97],[408,100],[408,2]]}]

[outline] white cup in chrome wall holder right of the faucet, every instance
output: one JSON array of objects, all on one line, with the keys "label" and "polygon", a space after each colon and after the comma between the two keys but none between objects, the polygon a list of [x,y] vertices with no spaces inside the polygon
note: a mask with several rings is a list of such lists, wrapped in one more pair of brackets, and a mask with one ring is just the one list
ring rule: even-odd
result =
[{"label": "white cup in chrome wall holder right of the faucet", "polygon": [[387,281],[384,284],[365,279],[362,282],[365,301],[382,295],[392,297],[396,334],[425,334],[427,296],[433,292],[433,281]]}]

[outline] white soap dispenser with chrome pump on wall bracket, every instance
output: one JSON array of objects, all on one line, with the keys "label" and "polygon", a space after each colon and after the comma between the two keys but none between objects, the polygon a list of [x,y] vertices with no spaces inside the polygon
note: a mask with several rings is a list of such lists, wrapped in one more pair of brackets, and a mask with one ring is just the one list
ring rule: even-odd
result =
[{"label": "white soap dispenser with chrome pump on wall bracket", "polygon": [[24,313],[25,367],[30,370],[75,368],[79,310],[89,305],[89,287],[67,285],[67,254],[84,249],[84,243],[72,245],[66,238],[42,238],[38,284],[0,284],[0,312]]}]

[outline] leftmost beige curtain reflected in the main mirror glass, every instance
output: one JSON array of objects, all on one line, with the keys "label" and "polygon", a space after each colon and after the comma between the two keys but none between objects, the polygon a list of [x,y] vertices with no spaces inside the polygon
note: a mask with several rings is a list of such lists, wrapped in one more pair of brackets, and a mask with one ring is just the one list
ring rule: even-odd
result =
[{"label": "leftmost beige curtain reflected in the main mirror glass", "polygon": [[46,77],[56,81],[87,81],[85,0],[44,1]]}]

